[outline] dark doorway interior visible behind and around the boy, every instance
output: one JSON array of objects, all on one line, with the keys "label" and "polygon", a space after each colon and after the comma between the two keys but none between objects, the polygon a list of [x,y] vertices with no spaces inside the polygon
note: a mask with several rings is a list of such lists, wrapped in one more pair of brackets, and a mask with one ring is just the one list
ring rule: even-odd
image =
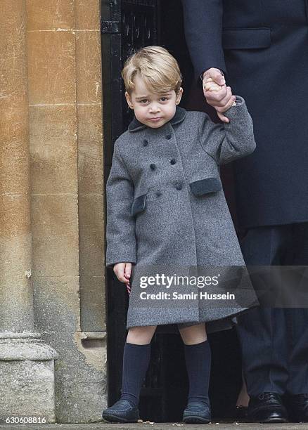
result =
[{"label": "dark doorway interior visible behind and around the boy", "polygon": [[[108,178],[115,139],[131,121],[132,112],[124,103],[120,70],[124,60],[141,46],[165,46],[177,58],[184,75],[181,106],[194,105],[193,67],[185,43],[180,0],[102,0],[101,32],[103,58],[103,108],[105,181]],[[201,91],[201,89],[200,89]],[[107,270],[108,403],[120,397],[122,351],[127,336],[128,294],[111,269]],[[209,336],[212,348],[210,397],[214,419],[234,416],[241,384],[240,351],[235,330]],[[176,327],[159,326],[152,339],[150,366],[140,400],[142,419],[179,422],[186,405],[188,380],[184,348]]]}]

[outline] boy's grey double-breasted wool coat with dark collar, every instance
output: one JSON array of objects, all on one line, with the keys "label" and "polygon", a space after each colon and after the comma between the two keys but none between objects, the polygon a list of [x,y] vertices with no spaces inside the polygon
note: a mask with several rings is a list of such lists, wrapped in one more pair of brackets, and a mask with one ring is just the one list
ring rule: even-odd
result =
[{"label": "boy's grey double-breasted wool coat with dark collar", "polygon": [[[229,124],[214,124],[203,112],[177,106],[158,129],[134,117],[115,142],[106,184],[106,266],[132,263],[127,329],[206,322],[207,332],[223,330],[235,315],[255,306],[250,280],[232,272],[245,263],[219,176],[219,165],[255,150],[252,119],[240,96],[224,115]],[[143,275],[206,275],[207,267],[221,277],[225,289],[219,292],[245,290],[245,304],[201,299],[205,289],[213,292],[211,283],[166,287],[155,278],[141,287]],[[158,292],[171,297],[154,297]],[[184,295],[190,293],[197,295]]]}]

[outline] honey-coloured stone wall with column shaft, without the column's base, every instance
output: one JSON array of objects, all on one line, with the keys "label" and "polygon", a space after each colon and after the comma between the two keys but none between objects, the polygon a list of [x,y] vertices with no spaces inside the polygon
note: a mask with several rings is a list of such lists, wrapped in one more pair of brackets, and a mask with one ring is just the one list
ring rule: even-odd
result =
[{"label": "honey-coloured stone wall with column shaft, without the column's base", "polygon": [[57,422],[97,421],[107,395],[100,1],[1,0],[0,20],[0,332],[39,332],[58,353]]}]

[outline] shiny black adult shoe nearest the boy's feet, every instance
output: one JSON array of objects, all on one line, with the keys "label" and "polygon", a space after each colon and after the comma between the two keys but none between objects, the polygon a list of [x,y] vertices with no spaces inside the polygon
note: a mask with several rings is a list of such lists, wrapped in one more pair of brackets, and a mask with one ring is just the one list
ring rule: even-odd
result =
[{"label": "shiny black adult shoe nearest the boy's feet", "polygon": [[288,412],[278,393],[261,393],[250,397],[248,405],[250,422],[288,422]]}]

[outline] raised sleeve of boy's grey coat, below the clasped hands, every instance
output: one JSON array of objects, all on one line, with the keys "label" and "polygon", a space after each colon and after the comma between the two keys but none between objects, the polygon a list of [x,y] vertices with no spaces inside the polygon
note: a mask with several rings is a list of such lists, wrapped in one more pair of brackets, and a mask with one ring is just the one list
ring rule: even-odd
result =
[{"label": "raised sleeve of boy's grey coat, below the clasped hands", "polygon": [[204,115],[199,130],[200,143],[217,164],[229,163],[255,150],[252,118],[242,97],[236,96],[236,106],[224,112],[229,123],[214,124],[207,114]]}]

